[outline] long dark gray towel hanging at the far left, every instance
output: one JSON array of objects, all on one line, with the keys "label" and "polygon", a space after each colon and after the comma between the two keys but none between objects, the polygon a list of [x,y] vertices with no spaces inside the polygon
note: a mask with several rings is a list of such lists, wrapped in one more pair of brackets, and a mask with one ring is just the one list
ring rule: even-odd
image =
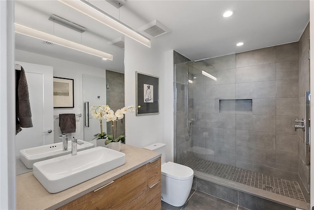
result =
[{"label": "long dark gray towel hanging at the far left", "polygon": [[[26,75],[23,67],[21,71],[15,71],[16,88],[15,88],[15,114],[16,114],[16,133],[22,131],[22,128],[31,128],[33,123],[31,121],[31,111],[29,103],[28,86]],[[22,127],[22,128],[21,128]]]}]

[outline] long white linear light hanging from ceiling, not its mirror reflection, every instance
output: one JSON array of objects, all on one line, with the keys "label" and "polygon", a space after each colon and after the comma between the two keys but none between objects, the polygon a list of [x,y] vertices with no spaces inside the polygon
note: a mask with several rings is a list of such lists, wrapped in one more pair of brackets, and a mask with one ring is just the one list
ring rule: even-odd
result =
[{"label": "long white linear light hanging from ceiling, not its mirror reflection", "polygon": [[73,9],[87,15],[88,17],[108,26],[111,27],[120,33],[129,36],[130,38],[134,39],[135,41],[147,46],[151,47],[151,40],[142,34],[138,33],[131,27],[125,25],[124,23],[120,22],[119,20],[115,19],[114,17],[110,16],[109,14],[105,13],[103,10],[95,7],[94,5],[90,4],[85,0],[59,0],[60,2],[72,7]]}]

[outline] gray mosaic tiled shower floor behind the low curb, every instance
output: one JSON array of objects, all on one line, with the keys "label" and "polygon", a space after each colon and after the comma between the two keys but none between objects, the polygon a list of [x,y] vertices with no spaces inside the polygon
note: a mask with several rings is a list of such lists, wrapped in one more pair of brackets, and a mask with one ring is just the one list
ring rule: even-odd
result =
[{"label": "gray mosaic tiled shower floor behind the low curb", "polygon": [[297,182],[196,157],[192,157],[184,165],[195,171],[210,174],[236,183],[246,184],[289,198],[305,201],[301,188]]}]

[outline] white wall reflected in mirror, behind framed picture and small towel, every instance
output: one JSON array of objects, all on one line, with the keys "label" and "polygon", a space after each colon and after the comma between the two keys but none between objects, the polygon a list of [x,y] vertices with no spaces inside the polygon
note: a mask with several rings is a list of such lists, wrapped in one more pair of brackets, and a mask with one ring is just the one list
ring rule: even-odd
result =
[{"label": "white wall reflected in mirror, behind framed picture and small towel", "polygon": [[[82,92],[82,75],[91,75],[95,77],[105,78],[105,69],[100,69],[92,66],[86,66],[80,63],[75,63],[67,60],[61,60],[54,57],[49,57],[36,53],[16,50],[15,58],[19,61],[28,63],[36,63],[40,65],[52,66],[53,77],[74,79],[74,108],[54,108],[53,115],[61,113],[83,114],[83,92]],[[104,90],[106,91],[106,90]],[[58,134],[61,133],[59,128],[59,120],[54,119],[54,142],[59,142]],[[83,139],[83,116],[77,117],[76,132],[72,133],[76,138]]]}]

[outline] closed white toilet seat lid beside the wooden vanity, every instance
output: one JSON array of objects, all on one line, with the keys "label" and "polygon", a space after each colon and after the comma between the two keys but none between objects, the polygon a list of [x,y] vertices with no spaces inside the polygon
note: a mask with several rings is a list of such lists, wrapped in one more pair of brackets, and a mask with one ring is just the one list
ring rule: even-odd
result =
[{"label": "closed white toilet seat lid beside the wooden vanity", "polygon": [[194,176],[194,171],[175,162],[167,162],[161,165],[161,174],[175,180],[189,180]]}]

